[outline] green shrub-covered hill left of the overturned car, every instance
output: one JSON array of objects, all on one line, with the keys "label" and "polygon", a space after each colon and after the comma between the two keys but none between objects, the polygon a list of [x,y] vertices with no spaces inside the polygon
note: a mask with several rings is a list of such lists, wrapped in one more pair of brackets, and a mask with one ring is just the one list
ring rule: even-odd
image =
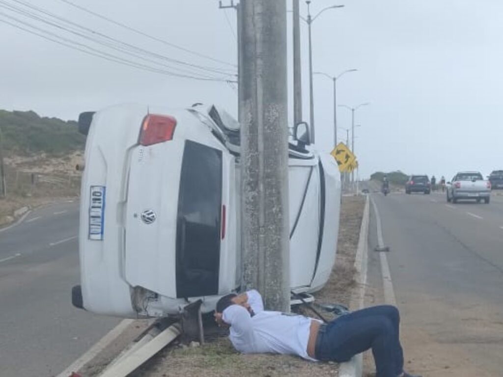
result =
[{"label": "green shrub-covered hill left of the overturned car", "polygon": [[63,155],[82,150],[86,137],[77,131],[77,123],[58,118],[42,118],[33,111],[0,110],[0,131],[4,154]]}]

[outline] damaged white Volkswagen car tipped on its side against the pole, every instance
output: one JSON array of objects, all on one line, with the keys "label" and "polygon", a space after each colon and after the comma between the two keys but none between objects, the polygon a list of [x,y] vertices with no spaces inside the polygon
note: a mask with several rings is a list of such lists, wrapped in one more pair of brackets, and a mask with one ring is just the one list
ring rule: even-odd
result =
[{"label": "damaged white Volkswagen car tipped on its side against the pole", "polygon": [[[215,106],[119,105],[82,113],[79,129],[88,138],[73,305],[163,317],[197,299],[210,312],[238,290],[239,124]],[[336,162],[290,143],[289,192],[291,288],[313,292],[336,258]]]}]

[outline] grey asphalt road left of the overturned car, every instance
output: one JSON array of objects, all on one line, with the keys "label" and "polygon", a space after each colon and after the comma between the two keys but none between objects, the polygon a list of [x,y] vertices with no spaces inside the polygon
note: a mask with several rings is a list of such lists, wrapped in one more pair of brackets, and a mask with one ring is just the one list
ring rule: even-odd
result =
[{"label": "grey asphalt road left of the overturned car", "polygon": [[65,202],[0,231],[0,375],[56,375],[120,322],[71,306],[77,229],[78,204]]}]

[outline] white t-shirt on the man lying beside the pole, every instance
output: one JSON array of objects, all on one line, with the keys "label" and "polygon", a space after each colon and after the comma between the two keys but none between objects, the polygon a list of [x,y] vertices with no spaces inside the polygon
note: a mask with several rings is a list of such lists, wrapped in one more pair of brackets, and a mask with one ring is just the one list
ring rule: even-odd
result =
[{"label": "white t-shirt on the man lying beside the pole", "polygon": [[246,292],[248,304],[255,315],[239,305],[223,311],[223,320],[230,325],[230,341],[242,353],[294,354],[316,361],[307,354],[312,318],[281,312],[264,311],[259,292]]}]

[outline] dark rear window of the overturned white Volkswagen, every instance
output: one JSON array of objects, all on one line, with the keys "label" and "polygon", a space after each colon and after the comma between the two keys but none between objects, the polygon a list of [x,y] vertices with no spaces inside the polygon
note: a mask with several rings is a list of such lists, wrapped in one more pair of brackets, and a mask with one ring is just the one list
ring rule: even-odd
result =
[{"label": "dark rear window of the overturned white Volkswagen", "polygon": [[222,152],[187,141],[177,218],[177,297],[218,294]]}]

